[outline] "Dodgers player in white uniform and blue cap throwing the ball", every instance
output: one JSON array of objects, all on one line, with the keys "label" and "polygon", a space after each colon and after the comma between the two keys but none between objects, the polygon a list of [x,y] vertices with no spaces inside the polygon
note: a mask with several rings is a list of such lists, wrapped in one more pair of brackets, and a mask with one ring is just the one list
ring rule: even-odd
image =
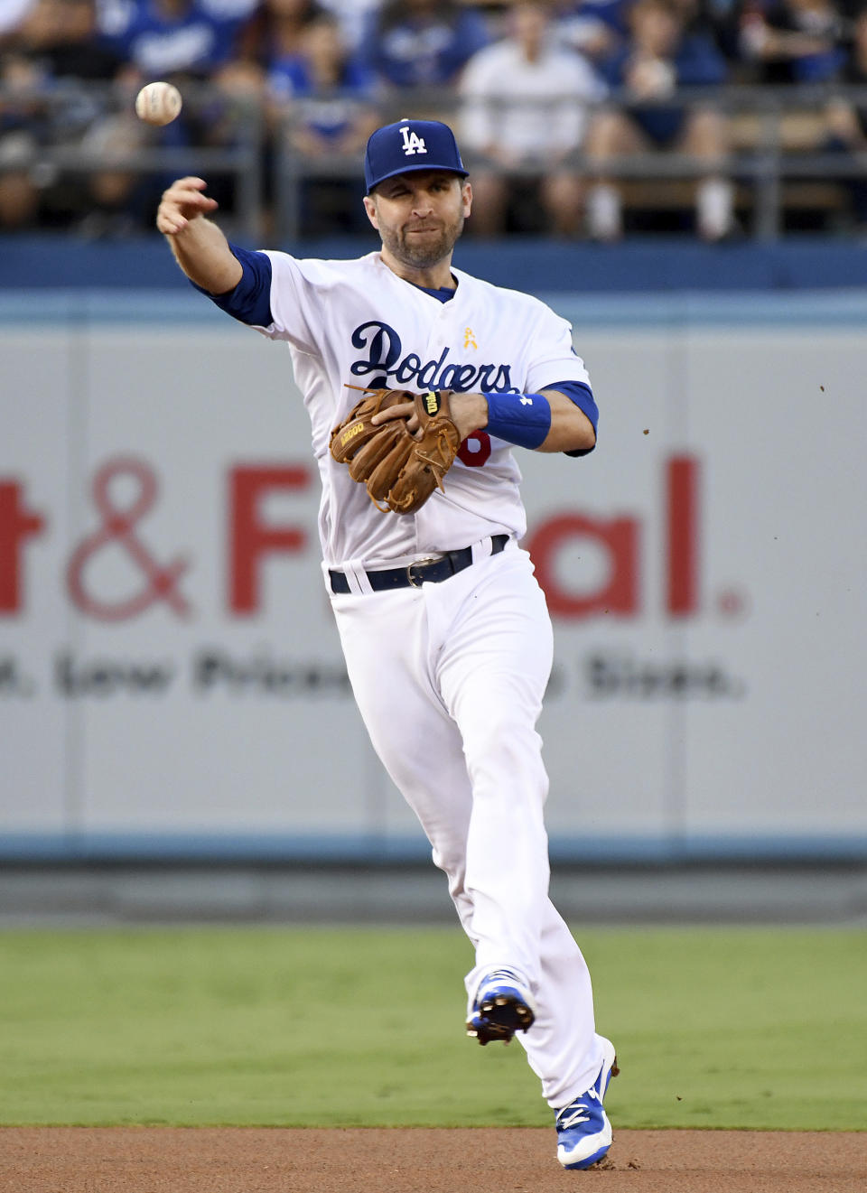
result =
[{"label": "Dodgers player in white uniform and blue cap throwing the ball", "polygon": [[[513,447],[586,455],[596,404],[564,320],[452,266],[472,190],[451,129],[415,119],[377,129],[364,171],[382,248],[358,260],[230,245],[206,218],[217,204],[198,178],[165,192],[156,225],[198,289],[289,344],[353,692],[475,946],[467,1033],[481,1044],[518,1034],[556,1111],[561,1163],[589,1168],[611,1145],[602,1099],[618,1070],[595,1030],[587,964],[549,897],[535,723],[552,633],[519,546]],[[353,421],[359,391],[394,389],[390,406]],[[425,412],[445,408],[448,435],[438,424],[434,438],[457,456],[434,470],[429,499],[410,513],[371,501],[373,482],[353,474],[359,457],[347,466],[337,449],[400,429],[429,474],[432,451],[417,440]]]}]

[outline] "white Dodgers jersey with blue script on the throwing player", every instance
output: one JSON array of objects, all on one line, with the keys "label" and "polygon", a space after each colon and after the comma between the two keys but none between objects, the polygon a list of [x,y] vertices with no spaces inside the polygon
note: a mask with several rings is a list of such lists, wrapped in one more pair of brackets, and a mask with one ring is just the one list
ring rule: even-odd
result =
[{"label": "white Dodgers jersey with blue script on the throwing player", "polygon": [[538,392],[556,382],[589,385],[569,323],[537,298],[452,270],[448,302],[398,278],[379,253],[358,260],[298,260],[268,252],[273,322],[287,340],[312,424],[322,480],[320,537],[327,567],[403,565],[507,532],[526,518],[510,445],[469,437],[444,481],[416,514],[383,513],[328,450],[333,427],[360,394],[348,385]]}]

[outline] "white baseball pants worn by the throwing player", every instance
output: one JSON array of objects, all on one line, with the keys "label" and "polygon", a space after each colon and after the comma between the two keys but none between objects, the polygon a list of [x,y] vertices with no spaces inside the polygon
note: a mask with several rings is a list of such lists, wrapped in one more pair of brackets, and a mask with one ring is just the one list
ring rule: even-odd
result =
[{"label": "white baseball pants worn by the throwing player", "polygon": [[543,1096],[565,1106],[595,1081],[602,1051],[587,964],[549,897],[535,723],[552,632],[530,556],[512,542],[441,583],[332,604],[373,748],[475,946],[467,994],[490,969],[525,975],[537,1019],[518,1038]]}]

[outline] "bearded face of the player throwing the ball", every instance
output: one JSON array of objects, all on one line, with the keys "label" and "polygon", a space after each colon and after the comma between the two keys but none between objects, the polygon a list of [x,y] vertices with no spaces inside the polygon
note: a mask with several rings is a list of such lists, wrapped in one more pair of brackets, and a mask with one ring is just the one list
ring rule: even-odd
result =
[{"label": "bearded face of the player throwing the ball", "polygon": [[389,253],[403,265],[423,270],[450,255],[471,200],[470,184],[463,178],[431,169],[386,178],[365,196],[364,205]]}]

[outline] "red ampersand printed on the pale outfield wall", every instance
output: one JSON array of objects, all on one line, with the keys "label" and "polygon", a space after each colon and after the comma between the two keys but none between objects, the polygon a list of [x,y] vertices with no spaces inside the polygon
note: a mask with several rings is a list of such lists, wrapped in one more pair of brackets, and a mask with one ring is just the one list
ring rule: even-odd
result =
[{"label": "red ampersand printed on the pale outfield wall", "polygon": [[[138,494],[126,509],[118,509],[111,497],[116,477],[128,476],[138,484]],[[132,533],[136,523],[150,511],[156,500],[157,484],[151,468],[131,457],[119,457],[104,464],[93,481],[93,500],[103,525],[75,549],[69,561],[67,583],[75,605],[103,622],[123,622],[144,612],[155,601],[165,600],[179,617],[190,612],[190,605],[178,591],[178,581],[187,569],[186,560],[175,560],[160,568],[142,542]],[[110,543],[120,544],[147,580],[147,586],[135,596],[109,604],[88,593],[82,573],[88,560]]]}]

